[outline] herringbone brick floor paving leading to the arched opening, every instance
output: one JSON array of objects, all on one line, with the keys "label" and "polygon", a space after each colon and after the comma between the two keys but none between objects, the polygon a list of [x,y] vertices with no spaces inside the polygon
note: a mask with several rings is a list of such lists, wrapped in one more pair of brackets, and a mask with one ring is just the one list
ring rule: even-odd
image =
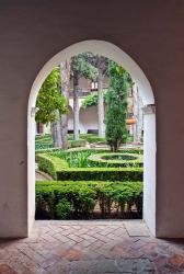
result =
[{"label": "herringbone brick floor paving leading to the arched opening", "polygon": [[0,274],[184,273],[184,241],[151,237],[140,220],[35,221],[0,240]]}]

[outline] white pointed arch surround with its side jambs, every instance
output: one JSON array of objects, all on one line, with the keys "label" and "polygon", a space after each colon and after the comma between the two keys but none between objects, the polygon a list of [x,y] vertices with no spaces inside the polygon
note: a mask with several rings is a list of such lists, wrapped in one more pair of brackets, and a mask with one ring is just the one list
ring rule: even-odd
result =
[{"label": "white pointed arch surround with its side jambs", "polygon": [[36,77],[28,100],[27,113],[27,197],[28,197],[28,231],[31,231],[35,213],[35,102],[37,93],[47,75],[59,62],[70,59],[72,56],[83,52],[91,52],[113,59],[122,65],[136,82],[143,103],[143,219],[150,231],[156,235],[156,111],[154,96],[141,68],[120,48],[104,41],[84,41],[67,47],[55,55],[39,71]]}]

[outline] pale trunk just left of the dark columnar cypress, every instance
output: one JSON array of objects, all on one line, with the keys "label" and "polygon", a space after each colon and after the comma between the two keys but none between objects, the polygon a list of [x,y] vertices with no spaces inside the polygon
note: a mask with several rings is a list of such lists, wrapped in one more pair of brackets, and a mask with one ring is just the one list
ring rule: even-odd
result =
[{"label": "pale trunk just left of the dark columnar cypress", "polygon": [[99,69],[99,76],[97,76],[97,127],[99,127],[99,137],[105,137],[103,73],[101,69]]}]

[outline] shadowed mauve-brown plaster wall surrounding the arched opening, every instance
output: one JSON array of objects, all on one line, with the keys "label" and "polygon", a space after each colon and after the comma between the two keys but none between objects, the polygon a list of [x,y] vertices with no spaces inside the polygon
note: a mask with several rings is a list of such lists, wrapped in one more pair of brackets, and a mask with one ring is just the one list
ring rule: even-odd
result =
[{"label": "shadowed mauve-brown plaster wall surrounding the arched opening", "polygon": [[157,104],[157,236],[184,237],[184,1],[0,1],[0,236],[27,235],[27,103],[67,46],[104,39],[142,68]]}]

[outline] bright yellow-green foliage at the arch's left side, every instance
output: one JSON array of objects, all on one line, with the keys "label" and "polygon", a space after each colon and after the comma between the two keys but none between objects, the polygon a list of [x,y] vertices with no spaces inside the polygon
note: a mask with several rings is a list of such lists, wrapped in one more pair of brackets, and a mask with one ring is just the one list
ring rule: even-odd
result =
[{"label": "bright yellow-green foliage at the arch's left side", "polygon": [[68,111],[68,103],[60,94],[60,73],[59,68],[55,68],[45,79],[36,100],[36,122],[48,124],[55,122],[56,111],[65,114]]}]

